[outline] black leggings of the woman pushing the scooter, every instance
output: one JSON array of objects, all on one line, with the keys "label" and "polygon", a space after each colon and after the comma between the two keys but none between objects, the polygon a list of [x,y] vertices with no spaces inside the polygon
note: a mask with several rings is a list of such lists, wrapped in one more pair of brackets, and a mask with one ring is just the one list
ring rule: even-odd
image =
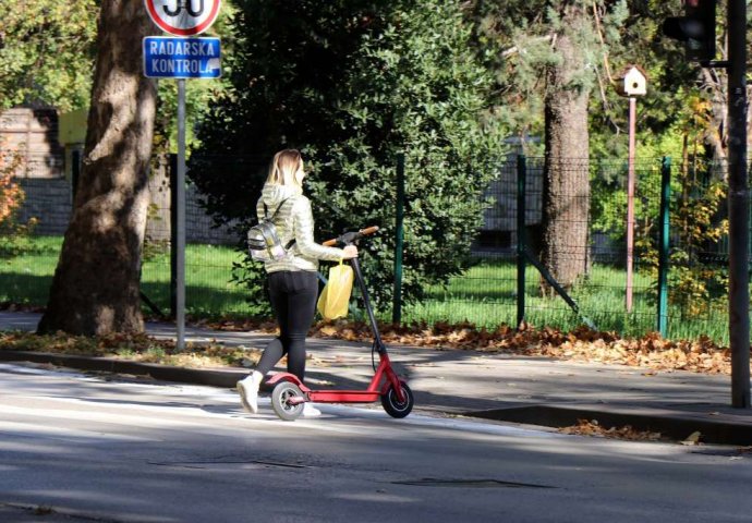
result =
[{"label": "black leggings of the woman pushing the scooter", "polygon": [[279,337],[264,350],[256,370],[264,376],[287,354],[288,372],[305,377],[305,337],[316,312],[318,277],[307,270],[281,270],[269,275],[269,299]]}]

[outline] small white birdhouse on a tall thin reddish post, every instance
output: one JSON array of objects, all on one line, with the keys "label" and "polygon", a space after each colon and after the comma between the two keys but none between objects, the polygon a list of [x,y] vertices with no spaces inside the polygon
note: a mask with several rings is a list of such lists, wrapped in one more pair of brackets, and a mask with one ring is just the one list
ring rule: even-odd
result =
[{"label": "small white birdhouse on a tall thin reddish post", "polygon": [[647,94],[647,76],[640,65],[628,65],[617,77],[616,90],[629,97],[629,163],[627,174],[627,312],[632,311],[632,281],[634,265],[634,127],[636,97]]}]

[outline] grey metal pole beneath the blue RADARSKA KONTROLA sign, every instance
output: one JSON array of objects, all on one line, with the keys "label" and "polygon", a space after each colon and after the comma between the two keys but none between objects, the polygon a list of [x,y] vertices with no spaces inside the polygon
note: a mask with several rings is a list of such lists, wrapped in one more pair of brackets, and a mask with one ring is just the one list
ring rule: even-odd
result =
[{"label": "grey metal pole beneath the blue RADARSKA KONTROLA sign", "polygon": [[177,349],[185,349],[185,78],[178,80],[178,177],[175,220],[175,325]]}]

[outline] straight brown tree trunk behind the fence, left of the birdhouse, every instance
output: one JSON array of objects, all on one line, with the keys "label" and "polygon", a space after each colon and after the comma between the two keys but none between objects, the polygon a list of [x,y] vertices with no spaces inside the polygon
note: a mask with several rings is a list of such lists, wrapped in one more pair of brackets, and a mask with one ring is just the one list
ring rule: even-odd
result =
[{"label": "straight brown tree trunk behind the fence, left of the birdhouse", "polygon": [[[565,27],[582,24],[585,16],[570,8]],[[577,22],[577,23],[575,23]],[[587,99],[591,87],[583,52],[567,32],[556,38],[561,58],[547,71],[545,99],[545,165],[543,183],[542,263],[565,288],[587,270],[590,216]],[[542,280],[544,292],[549,291]]]}]

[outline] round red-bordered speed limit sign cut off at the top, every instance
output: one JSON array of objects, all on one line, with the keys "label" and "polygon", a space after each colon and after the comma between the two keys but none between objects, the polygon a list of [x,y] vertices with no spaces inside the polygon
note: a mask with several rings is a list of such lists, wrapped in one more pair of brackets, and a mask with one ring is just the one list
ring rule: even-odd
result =
[{"label": "round red-bordered speed limit sign cut off at the top", "polygon": [[193,36],[208,29],[219,13],[219,0],[144,0],[146,10],[162,31]]}]

